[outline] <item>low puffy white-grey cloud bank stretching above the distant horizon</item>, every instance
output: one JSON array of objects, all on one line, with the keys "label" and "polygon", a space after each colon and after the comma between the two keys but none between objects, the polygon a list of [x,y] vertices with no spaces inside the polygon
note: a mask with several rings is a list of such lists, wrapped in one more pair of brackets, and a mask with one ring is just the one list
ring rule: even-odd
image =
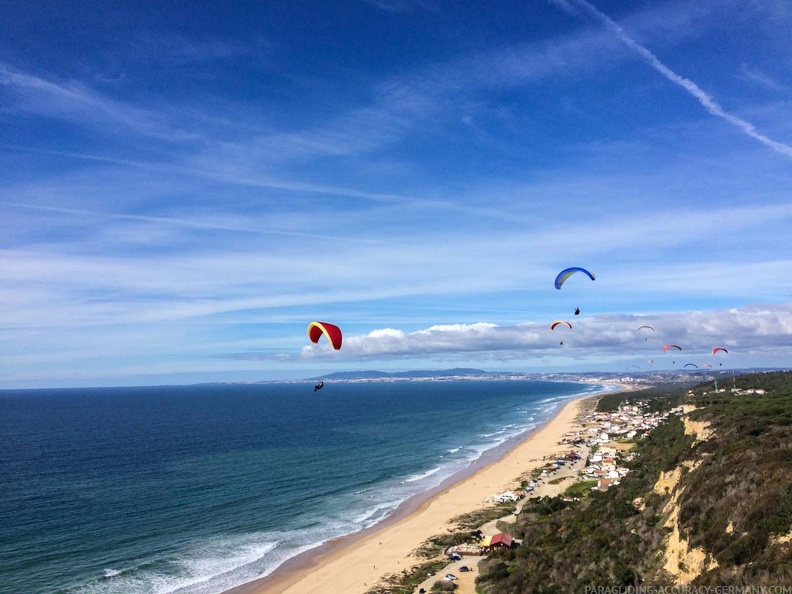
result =
[{"label": "low puffy white-grey cloud bank stretching above the distant horizon", "polygon": [[[479,357],[497,353],[500,359],[527,356],[571,356],[580,359],[631,357],[650,353],[661,357],[668,343],[682,346],[678,356],[706,357],[716,346],[734,356],[783,349],[792,354],[792,304],[746,306],[728,311],[691,311],[649,315],[602,315],[573,319],[571,330],[551,330],[549,323],[499,326],[492,323],[432,326],[404,332],[385,329],[344,338],[344,359],[419,357],[432,354]],[[642,325],[654,332],[638,332]],[[560,345],[563,340],[564,344]],[[505,351],[511,355],[504,355]],[[337,356],[325,346],[303,348],[302,357]],[[670,356],[670,355],[669,355]]]}]

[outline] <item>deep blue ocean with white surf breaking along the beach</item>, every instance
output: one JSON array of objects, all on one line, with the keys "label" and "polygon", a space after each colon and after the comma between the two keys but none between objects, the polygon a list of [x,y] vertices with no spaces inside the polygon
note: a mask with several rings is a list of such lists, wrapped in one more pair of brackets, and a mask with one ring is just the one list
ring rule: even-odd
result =
[{"label": "deep blue ocean with white surf breaking along the beach", "polygon": [[518,380],[0,391],[0,592],[219,593],[602,390]]}]

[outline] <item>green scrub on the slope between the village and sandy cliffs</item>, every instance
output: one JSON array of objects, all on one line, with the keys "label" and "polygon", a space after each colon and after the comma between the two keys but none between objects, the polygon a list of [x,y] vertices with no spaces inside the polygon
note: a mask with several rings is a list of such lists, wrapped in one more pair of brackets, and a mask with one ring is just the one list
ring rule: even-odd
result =
[{"label": "green scrub on the slope between the village and sandy cliffs", "polygon": [[[639,572],[656,573],[657,560],[646,553],[659,547],[665,532],[656,519],[641,521],[633,499],[636,492],[651,490],[690,442],[682,423],[672,419],[641,444],[641,465],[651,471],[634,468],[632,488],[624,488],[624,481],[619,488],[592,491],[576,504],[557,497],[530,500],[515,526],[523,545],[493,555],[503,565],[493,562],[494,574],[482,569],[481,592],[582,591],[588,585],[637,585]],[[664,502],[662,497],[648,499],[646,517],[661,513]]]}]

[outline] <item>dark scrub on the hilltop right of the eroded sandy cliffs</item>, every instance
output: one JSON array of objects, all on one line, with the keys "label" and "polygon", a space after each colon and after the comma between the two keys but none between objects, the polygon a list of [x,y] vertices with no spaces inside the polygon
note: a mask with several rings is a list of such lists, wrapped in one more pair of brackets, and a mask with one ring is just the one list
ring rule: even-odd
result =
[{"label": "dark scrub on the hilltop right of the eroded sandy cliffs", "polygon": [[734,386],[765,393],[694,390],[701,408],[690,418],[714,436],[698,444],[702,463],[684,477],[680,528],[719,565],[697,583],[789,584],[789,546],[778,541],[792,531],[792,373],[742,376]]}]

